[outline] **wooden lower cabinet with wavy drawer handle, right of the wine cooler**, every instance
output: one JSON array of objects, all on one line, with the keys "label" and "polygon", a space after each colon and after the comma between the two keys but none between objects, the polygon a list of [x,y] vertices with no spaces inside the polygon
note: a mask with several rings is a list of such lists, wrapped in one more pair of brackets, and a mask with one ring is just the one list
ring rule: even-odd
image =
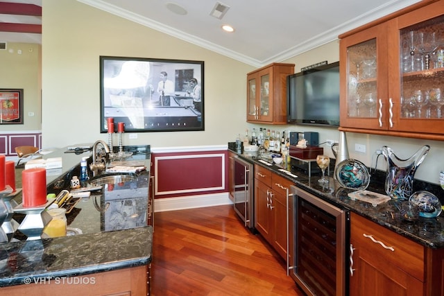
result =
[{"label": "wooden lower cabinet with wavy drawer handle, right of the wine cooler", "polygon": [[350,295],[424,295],[424,249],[352,213]]}]

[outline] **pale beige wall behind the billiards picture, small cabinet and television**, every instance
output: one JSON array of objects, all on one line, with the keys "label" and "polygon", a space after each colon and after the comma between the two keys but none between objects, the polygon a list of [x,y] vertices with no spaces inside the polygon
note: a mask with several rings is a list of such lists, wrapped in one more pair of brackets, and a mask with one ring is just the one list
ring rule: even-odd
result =
[{"label": "pale beige wall behind the billiards picture, small cabinet and television", "polygon": [[[106,139],[99,132],[99,55],[166,58],[205,61],[205,131],[138,133],[126,145],[157,147],[210,146],[234,141],[238,132],[259,125],[246,123],[246,73],[250,65],[207,51],[193,44],[154,31],[74,0],[43,0],[42,112],[43,146],[67,146]],[[339,42],[330,42],[285,61],[296,71],[309,64],[339,60]],[[266,125],[260,125],[266,127]],[[320,141],[339,140],[331,128],[271,126],[275,130],[317,131]],[[347,134],[350,157],[374,166],[373,152],[390,146],[401,158],[408,158],[425,143],[432,150],[416,177],[438,183],[444,168],[444,144],[397,137]],[[367,153],[356,153],[355,143],[366,145]],[[330,154],[330,148],[326,148]],[[384,170],[379,157],[378,168]]]}]

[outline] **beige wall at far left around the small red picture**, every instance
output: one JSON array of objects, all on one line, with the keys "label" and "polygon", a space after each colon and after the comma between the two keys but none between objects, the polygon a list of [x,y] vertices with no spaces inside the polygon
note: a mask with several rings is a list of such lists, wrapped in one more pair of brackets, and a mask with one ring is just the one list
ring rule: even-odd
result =
[{"label": "beige wall at far left around the small red picture", "polygon": [[[40,116],[41,46],[31,43],[8,42],[6,51],[0,51],[0,88],[23,89],[23,124],[0,125],[0,132],[39,131]],[[21,53],[19,53],[21,52]],[[28,114],[32,112],[34,116]]]}]

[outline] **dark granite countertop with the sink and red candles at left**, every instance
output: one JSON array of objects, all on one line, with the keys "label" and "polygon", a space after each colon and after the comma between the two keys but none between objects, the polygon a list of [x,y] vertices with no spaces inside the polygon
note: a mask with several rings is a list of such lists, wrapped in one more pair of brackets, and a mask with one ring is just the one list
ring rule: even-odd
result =
[{"label": "dark granite countertop with the sink and red candles at left", "polygon": [[[105,184],[101,191],[79,200],[66,216],[68,227],[80,229],[82,234],[26,241],[26,236],[17,230],[9,243],[0,243],[0,287],[90,275],[151,262],[153,227],[147,225],[150,149],[149,146],[129,146],[126,150],[133,151],[128,161],[144,162],[146,171],[123,184]],[[48,193],[69,189],[71,177],[80,173],[80,160],[91,155],[89,151],[78,155],[65,151],[45,156],[62,157],[63,166],[57,173],[47,171]],[[22,168],[16,168],[17,188],[21,186],[21,171]],[[22,202],[20,193],[15,200]],[[20,222],[24,215],[15,214],[13,218]]]}]

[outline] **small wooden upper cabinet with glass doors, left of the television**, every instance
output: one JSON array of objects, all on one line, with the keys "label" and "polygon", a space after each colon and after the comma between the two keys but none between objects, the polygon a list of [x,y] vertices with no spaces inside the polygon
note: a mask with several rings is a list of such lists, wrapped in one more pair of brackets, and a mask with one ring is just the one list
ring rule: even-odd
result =
[{"label": "small wooden upper cabinet with glass doors, left of the television", "polygon": [[247,121],[287,124],[287,76],[294,64],[273,63],[247,74]]}]

